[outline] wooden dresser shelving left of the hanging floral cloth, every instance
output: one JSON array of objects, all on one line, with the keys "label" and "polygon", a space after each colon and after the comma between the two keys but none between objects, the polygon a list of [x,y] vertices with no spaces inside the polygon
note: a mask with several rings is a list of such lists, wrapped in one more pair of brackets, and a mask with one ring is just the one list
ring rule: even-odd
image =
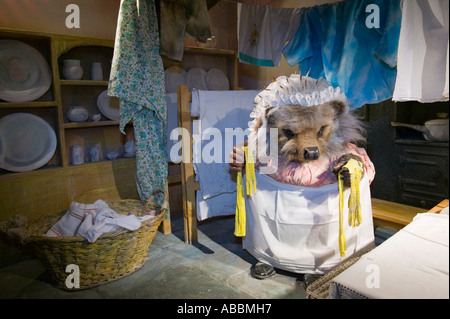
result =
[{"label": "wooden dresser shelving left of the hanging floral cloth", "polygon": [[[114,40],[4,28],[0,28],[0,39],[19,40],[34,47],[52,72],[50,89],[37,100],[0,100],[0,118],[16,112],[32,113],[46,120],[57,136],[55,155],[43,167],[23,173],[0,169],[0,220],[19,213],[28,218],[56,213],[67,209],[72,201],[138,199],[135,158],[105,158],[106,152],[121,151],[127,140],[134,139],[132,124],[127,125],[125,136],[119,131],[119,121],[103,115],[99,122],[84,123],[71,123],[66,115],[74,103],[86,105],[90,113],[101,113],[96,99],[108,87]],[[67,58],[81,60],[81,80],[63,78],[62,63]],[[89,79],[90,65],[97,61],[102,63],[104,81]],[[85,164],[71,164],[70,148],[74,144],[83,146]],[[101,149],[100,161],[90,162],[88,149],[96,144]]]}]

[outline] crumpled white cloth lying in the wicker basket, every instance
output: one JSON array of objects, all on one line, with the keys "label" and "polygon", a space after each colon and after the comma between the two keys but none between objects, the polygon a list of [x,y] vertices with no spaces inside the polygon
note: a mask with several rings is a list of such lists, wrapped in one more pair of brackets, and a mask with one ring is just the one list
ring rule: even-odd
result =
[{"label": "crumpled white cloth lying in the wicker basket", "polygon": [[102,234],[115,231],[119,227],[136,230],[141,226],[141,222],[150,217],[152,215],[137,217],[117,214],[100,199],[93,204],[72,202],[64,216],[44,236],[72,237],[80,235],[93,243]]}]

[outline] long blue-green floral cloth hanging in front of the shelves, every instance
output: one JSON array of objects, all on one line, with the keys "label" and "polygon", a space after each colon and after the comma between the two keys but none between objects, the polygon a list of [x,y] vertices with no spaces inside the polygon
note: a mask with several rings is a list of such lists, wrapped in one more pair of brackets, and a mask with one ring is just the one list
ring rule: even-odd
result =
[{"label": "long blue-green floral cloth hanging in front of the shelves", "polygon": [[[120,130],[133,119],[141,200],[167,180],[167,104],[154,0],[122,0],[108,94],[120,99]],[[156,202],[161,204],[163,195]]]}]

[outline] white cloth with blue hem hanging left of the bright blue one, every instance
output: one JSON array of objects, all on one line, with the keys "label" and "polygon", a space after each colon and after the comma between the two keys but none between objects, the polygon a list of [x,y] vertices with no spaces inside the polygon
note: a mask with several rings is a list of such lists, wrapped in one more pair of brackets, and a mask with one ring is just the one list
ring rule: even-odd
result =
[{"label": "white cloth with blue hem hanging left of the bright blue one", "polygon": [[238,3],[238,57],[259,66],[280,65],[281,52],[300,24],[299,8]]}]

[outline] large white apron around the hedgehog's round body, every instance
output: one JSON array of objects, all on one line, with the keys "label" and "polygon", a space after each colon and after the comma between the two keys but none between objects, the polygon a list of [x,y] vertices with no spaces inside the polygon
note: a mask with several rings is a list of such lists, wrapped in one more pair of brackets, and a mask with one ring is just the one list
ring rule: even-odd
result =
[{"label": "large white apron around the hedgehog's round body", "polygon": [[[323,274],[345,259],[374,246],[368,179],[360,184],[362,223],[348,226],[345,191],[344,223],[347,250],[339,253],[338,185],[301,187],[279,183],[255,171],[257,191],[247,197],[243,248],[275,268]],[[244,182],[245,185],[245,182]]]}]

